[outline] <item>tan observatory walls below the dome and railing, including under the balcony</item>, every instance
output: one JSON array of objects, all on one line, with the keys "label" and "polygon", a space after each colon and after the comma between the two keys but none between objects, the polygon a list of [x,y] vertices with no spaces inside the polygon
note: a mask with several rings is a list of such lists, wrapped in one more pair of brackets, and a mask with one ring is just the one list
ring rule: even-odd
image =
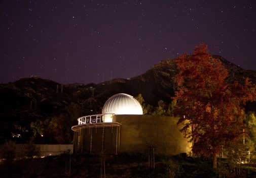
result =
[{"label": "tan observatory walls below the dome and railing, including under the balcony", "polygon": [[180,133],[177,121],[168,116],[114,115],[113,124],[118,123],[117,126],[111,123],[79,125],[74,134],[74,152],[144,153],[154,148],[161,154],[188,154],[192,144]]}]

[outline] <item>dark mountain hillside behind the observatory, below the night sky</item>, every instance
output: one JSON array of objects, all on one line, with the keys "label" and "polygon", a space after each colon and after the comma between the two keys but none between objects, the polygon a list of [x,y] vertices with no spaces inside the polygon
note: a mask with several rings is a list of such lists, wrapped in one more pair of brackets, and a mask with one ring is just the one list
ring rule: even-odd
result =
[{"label": "dark mountain hillside behind the observatory, below the night sky", "polygon": [[[256,83],[256,71],[244,70],[221,56],[214,55],[214,57],[221,60],[227,68],[229,82],[242,83],[248,77],[252,83]],[[101,113],[105,101],[117,93],[128,93],[133,96],[141,93],[145,102],[153,106],[156,106],[160,99],[170,103],[176,88],[175,74],[177,69],[174,59],[168,59],[129,80],[113,79],[100,84],[61,85],[39,77],[29,77],[13,83],[1,84],[0,142],[17,137],[21,132],[23,137],[18,140],[25,142],[32,135],[31,122],[51,120],[52,117],[60,114],[62,118],[70,117],[66,118],[69,124],[65,127],[72,126],[77,123],[76,119],[79,116]],[[255,110],[255,105],[249,103],[247,109]],[[59,128],[61,129],[63,130]],[[72,135],[70,128],[66,132]]]}]

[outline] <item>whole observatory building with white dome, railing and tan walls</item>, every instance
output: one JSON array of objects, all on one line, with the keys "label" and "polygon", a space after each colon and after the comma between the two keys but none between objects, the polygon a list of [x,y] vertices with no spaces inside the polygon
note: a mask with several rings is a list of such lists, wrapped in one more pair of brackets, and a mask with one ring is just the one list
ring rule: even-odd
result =
[{"label": "whole observatory building with white dome, railing and tan walls", "polygon": [[179,132],[178,118],[143,115],[133,96],[119,93],[104,104],[102,114],[78,118],[73,126],[74,153],[143,153],[154,148],[156,153],[189,153],[191,143]]}]

